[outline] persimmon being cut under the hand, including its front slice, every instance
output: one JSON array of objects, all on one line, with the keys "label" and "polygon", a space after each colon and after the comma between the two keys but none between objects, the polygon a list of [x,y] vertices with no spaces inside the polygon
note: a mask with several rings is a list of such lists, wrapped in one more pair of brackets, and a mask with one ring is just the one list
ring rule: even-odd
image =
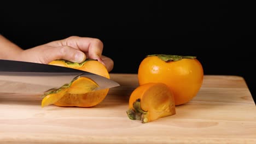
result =
[{"label": "persimmon being cut under the hand, including its front slice", "polygon": [[[55,60],[50,62],[51,65],[68,67],[88,71],[97,75],[101,75],[110,79],[107,68],[95,59],[86,59],[83,63],[72,63],[64,60]],[[83,89],[81,89],[83,87]],[[42,107],[50,104],[57,106],[78,106],[91,107],[95,106],[106,97],[109,88],[92,92],[98,87],[97,83],[87,77],[79,77],[77,80],[63,86],[54,92],[45,94],[42,100]]]}]

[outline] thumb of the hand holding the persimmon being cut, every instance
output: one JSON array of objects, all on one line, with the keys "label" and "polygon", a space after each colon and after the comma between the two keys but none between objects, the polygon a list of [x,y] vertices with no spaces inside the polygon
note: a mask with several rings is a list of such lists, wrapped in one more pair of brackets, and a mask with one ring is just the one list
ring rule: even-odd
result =
[{"label": "thumb of the hand holding the persimmon being cut", "polygon": [[46,49],[44,51],[44,61],[51,62],[56,59],[65,59],[70,62],[82,63],[85,61],[85,53],[74,49],[71,46],[58,46],[51,47],[51,49]]}]

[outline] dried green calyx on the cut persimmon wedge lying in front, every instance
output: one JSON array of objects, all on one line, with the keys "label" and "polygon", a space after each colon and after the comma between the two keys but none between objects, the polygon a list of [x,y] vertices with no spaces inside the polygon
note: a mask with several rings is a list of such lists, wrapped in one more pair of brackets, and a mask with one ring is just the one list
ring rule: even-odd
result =
[{"label": "dried green calyx on the cut persimmon wedge lying in front", "polygon": [[133,103],[133,109],[127,110],[126,113],[127,113],[127,116],[132,120],[140,120],[142,123],[148,122],[148,118],[147,118],[148,112],[143,111],[141,109],[141,99],[137,99]]}]

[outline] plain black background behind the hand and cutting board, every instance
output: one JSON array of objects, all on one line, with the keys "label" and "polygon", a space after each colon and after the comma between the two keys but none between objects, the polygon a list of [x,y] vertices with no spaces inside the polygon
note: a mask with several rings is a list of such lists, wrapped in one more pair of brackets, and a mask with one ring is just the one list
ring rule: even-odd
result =
[{"label": "plain black background behind the hand and cutting board", "polygon": [[5,37],[28,49],[71,35],[104,43],[111,73],[137,73],[148,54],[192,55],[206,75],[242,76],[255,98],[255,8],[251,3],[167,1],[8,1]]}]

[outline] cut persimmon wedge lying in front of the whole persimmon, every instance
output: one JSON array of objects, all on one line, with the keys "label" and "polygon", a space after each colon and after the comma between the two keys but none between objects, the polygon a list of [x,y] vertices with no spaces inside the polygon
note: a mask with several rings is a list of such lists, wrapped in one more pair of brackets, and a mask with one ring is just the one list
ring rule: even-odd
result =
[{"label": "cut persimmon wedge lying in front of the whole persimmon", "polygon": [[164,83],[145,83],[130,95],[127,116],[142,123],[176,114],[174,97]]}]

